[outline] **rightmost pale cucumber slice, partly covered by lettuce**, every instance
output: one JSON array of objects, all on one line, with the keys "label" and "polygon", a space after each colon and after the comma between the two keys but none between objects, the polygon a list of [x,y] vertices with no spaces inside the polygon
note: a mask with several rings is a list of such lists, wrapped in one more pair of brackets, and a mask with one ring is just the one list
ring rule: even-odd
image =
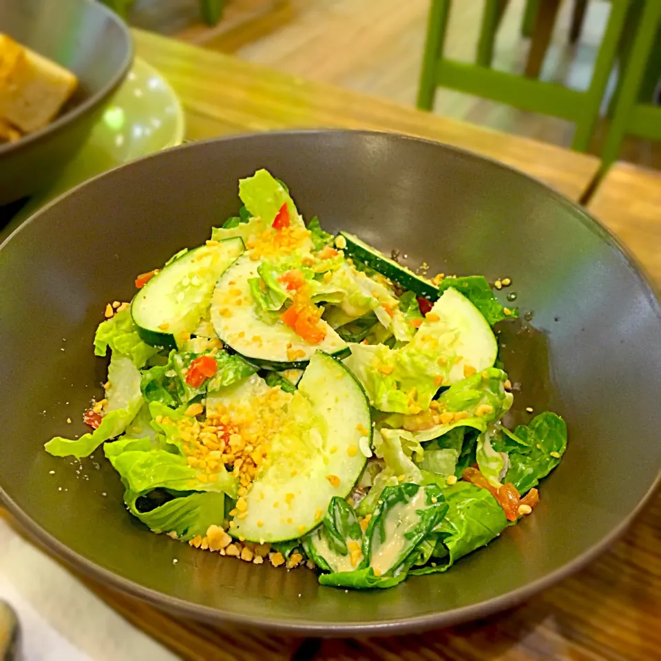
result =
[{"label": "rightmost pale cucumber slice, partly covered by lettuce", "polygon": [[465,379],[465,367],[475,368],[478,372],[493,367],[498,343],[489,322],[468,298],[453,288],[446,289],[434,303],[416,335],[441,337],[448,328],[457,334],[452,349],[457,357],[461,357],[450,370],[450,384]]}]

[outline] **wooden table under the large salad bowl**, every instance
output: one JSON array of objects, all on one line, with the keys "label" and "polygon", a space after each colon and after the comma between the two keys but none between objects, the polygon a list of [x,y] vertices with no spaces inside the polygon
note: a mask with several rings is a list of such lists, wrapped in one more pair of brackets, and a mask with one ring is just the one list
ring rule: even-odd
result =
[{"label": "wooden table under the large salad bowl", "polygon": [[[158,67],[182,98],[190,139],[290,127],[397,131],[491,156],[575,200],[584,198],[598,171],[591,156],[298,80],[145,32],[134,36],[138,55]],[[590,208],[622,235],[660,284],[661,258],[652,237],[657,243],[661,238],[661,176],[617,165]],[[651,661],[661,658],[660,537],[657,494],[613,549],[521,607],[421,636],[361,641],[224,632],[171,618],[82,580],[128,620],[191,660]]]}]

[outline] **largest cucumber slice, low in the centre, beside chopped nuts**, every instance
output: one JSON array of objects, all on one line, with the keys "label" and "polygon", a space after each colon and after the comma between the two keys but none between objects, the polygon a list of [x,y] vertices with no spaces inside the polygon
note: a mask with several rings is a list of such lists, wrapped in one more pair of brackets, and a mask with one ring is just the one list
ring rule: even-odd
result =
[{"label": "largest cucumber slice, low in the centre, beside chopped nuts", "polygon": [[247,515],[235,518],[236,527],[230,528],[235,537],[255,542],[298,538],[319,525],[330,499],[348,496],[361,475],[367,459],[359,443],[366,434],[371,442],[370,406],[342,363],[317,351],[289,415],[246,495]]}]

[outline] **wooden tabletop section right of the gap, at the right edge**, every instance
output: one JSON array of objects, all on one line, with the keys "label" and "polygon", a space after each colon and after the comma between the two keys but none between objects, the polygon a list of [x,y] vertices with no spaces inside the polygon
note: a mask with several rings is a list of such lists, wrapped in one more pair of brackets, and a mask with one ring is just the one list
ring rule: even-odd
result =
[{"label": "wooden tabletop section right of the gap, at the right edge", "polygon": [[588,209],[620,237],[654,282],[661,283],[661,171],[616,163]]}]

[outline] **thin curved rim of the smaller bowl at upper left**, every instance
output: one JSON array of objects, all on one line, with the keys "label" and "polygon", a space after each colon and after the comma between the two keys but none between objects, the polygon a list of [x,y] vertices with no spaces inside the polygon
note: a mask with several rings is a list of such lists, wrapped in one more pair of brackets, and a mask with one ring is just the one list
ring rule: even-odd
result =
[{"label": "thin curved rim of the smaller bowl at upper left", "polygon": [[83,2],[87,4],[87,6],[94,6],[92,11],[100,11],[103,14],[106,14],[106,16],[118,26],[120,31],[123,32],[127,40],[127,50],[123,62],[110,80],[101,87],[101,90],[97,90],[92,96],[86,98],[83,103],[76,105],[76,107],[72,108],[69,112],[65,112],[65,114],[59,116],[50,124],[39,129],[39,131],[21,137],[15,143],[0,144],[0,157],[10,154],[12,151],[21,149],[21,147],[28,147],[28,145],[37,143],[39,140],[45,140],[52,134],[59,132],[60,129],[67,126],[70,122],[78,119],[78,117],[87,114],[87,112],[90,112],[103,104],[119,87],[120,83],[124,80],[131,69],[135,55],[135,46],[128,25],[102,2],[95,0],[83,0]]}]

